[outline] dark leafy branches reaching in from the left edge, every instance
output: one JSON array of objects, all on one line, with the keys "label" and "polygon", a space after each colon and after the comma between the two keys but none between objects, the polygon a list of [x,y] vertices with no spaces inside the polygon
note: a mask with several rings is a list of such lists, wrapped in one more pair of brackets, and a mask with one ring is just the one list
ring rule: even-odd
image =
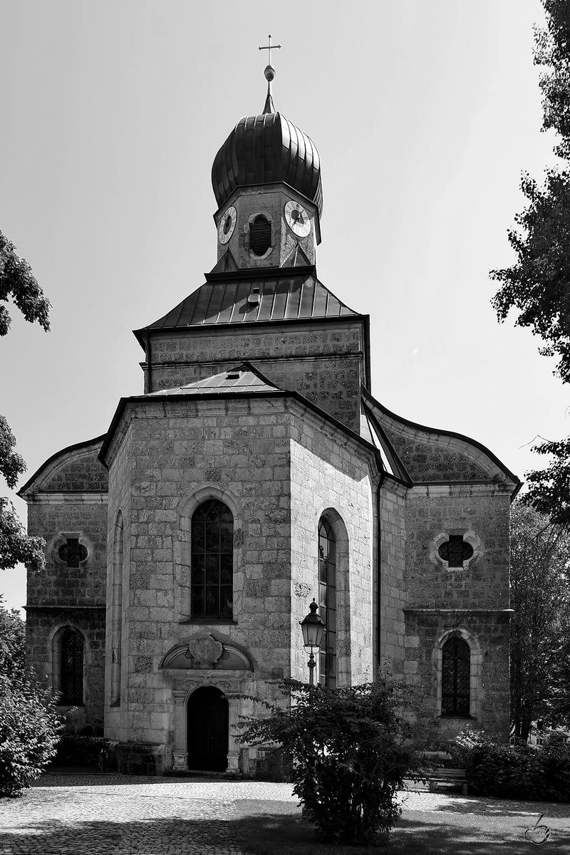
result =
[{"label": "dark leafy branches reaching in from the left edge", "polygon": [[[0,232],[0,301],[8,303],[9,299],[26,321],[37,322],[46,332],[50,330],[49,300],[30,265],[16,255],[14,244]],[[9,333],[10,324],[9,311],[0,303],[0,336]],[[15,451],[15,442],[9,423],[0,416],[0,474],[11,489],[16,486],[18,476],[26,471],[26,463]],[[9,499],[0,498],[0,569],[13,568],[20,562],[31,569],[43,569],[44,546],[42,538],[28,537]]]}]

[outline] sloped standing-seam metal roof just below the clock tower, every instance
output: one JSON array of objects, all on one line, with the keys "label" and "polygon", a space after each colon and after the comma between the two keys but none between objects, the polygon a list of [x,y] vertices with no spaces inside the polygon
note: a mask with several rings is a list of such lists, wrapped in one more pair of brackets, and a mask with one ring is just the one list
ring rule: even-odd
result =
[{"label": "sloped standing-seam metal roof just below the clock tower", "polygon": [[[229,277],[228,277],[229,279]],[[254,321],[297,321],[356,315],[314,275],[206,282],[145,329]]]}]

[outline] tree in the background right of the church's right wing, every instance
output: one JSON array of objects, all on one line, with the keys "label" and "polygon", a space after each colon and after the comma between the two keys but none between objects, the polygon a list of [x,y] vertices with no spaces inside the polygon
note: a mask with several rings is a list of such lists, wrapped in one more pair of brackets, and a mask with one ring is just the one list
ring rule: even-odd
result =
[{"label": "tree in the background right of the church's right wing", "polygon": [[[570,705],[570,534],[520,501],[511,514],[511,723],[561,724]],[[566,705],[566,711],[565,711]]]}]

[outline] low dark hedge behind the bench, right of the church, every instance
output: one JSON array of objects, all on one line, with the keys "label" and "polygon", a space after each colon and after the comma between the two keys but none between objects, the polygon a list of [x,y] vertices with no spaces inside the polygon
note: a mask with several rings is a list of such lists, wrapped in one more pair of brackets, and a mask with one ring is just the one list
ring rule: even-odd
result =
[{"label": "low dark hedge behind the bench, right of the church", "polygon": [[450,743],[454,762],[465,769],[474,794],[508,799],[570,801],[570,745],[549,742],[514,746],[467,730]]}]

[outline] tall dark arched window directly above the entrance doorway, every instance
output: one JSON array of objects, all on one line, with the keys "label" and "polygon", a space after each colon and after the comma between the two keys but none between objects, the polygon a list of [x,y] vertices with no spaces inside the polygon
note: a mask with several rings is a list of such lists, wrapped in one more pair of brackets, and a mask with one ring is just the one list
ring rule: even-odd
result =
[{"label": "tall dark arched window directly above the entrance doorway", "polygon": [[232,617],[233,516],[215,498],[192,516],[191,615]]}]

